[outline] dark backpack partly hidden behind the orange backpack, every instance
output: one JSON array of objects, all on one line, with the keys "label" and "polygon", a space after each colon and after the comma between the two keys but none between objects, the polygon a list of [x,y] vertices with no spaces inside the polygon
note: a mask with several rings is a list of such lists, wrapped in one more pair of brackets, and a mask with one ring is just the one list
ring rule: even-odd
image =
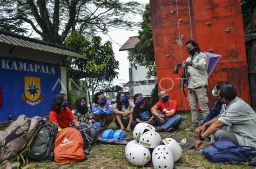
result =
[{"label": "dark backpack partly hidden behind the orange backpack", "polygon": [[79,125],[73,127],[77,129],[83,137],[84,150],[90,148],[98,140],[98,133],[95,127],[90,125]]}]

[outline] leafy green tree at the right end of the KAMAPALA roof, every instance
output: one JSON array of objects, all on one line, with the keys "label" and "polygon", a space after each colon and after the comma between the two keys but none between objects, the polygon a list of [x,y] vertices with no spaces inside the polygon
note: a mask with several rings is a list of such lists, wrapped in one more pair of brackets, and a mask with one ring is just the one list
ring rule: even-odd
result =
[{"label": "leafy green tree at the right end of the KAMAPALA roof", "polygon": [[106,91],[114,78],[118,76],[119,62],[114,58],[111,42],[101,43],[102,39],[95,36],[89,40],[79,32],[73,31],[66,40],[66,47],[75,49],[87,60],[68,58],[70,69],[67,76],[75,83],[82,83],[80,90],[85,90],[91,104],[96,91]]}]

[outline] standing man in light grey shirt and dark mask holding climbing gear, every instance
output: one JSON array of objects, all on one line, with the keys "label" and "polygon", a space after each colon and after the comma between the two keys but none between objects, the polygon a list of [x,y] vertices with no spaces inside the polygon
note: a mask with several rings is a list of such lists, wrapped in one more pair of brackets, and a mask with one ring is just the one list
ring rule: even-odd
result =
[{"label": "standing man in light grey shirt and dark mask holding climbing gear", "polygon": [[188,67],[188,73],[190,75],[188,79],[188,102],[190,103],[192,123],[185,131],[193,132],[198,127],[197,102],[199,102],[203,117],[206,117],[209,112],[207,97],[207,57],[205,53],[200,51],[198,44],[194,40],[188,40],[186,42],[186,49],[190,53],[190,56],[184,63]]}]

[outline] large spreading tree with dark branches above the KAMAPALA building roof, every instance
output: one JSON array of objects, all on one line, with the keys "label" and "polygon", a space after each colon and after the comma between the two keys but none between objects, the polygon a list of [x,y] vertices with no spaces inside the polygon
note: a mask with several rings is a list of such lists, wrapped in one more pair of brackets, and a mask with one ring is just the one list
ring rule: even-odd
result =
[{"label": "large spreading tree with dark branches above the KAMAPALA building roof", "polygon": [[132,28],[136,23],[129,15],[141,12],[141,5],[134,1],[27,0],[0,4],[0,29],[14,33],[33,30],[44,41],[60,45],[71,30],[94,35],[98,30],[106,33],[111,27]]}]

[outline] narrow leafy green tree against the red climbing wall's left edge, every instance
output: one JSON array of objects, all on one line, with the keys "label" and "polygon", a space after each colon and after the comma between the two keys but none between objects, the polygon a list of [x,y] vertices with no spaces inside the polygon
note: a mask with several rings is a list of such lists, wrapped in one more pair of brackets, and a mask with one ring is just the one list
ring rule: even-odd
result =
[{"label": "narrow leafy green tree against the red climbing wall's left edge", "polygon": [[139,31],[139,42],[132,50],[128,59],[131,66],[137,69],[138,63],[143,63],[149,71],[147,71],[147,78],[156,76],[156,65],[154,60],[154,44],[153,33],[150,16],[150,5],[146,4],[143,13],[143,21],[140,23],[142,30]]}]

